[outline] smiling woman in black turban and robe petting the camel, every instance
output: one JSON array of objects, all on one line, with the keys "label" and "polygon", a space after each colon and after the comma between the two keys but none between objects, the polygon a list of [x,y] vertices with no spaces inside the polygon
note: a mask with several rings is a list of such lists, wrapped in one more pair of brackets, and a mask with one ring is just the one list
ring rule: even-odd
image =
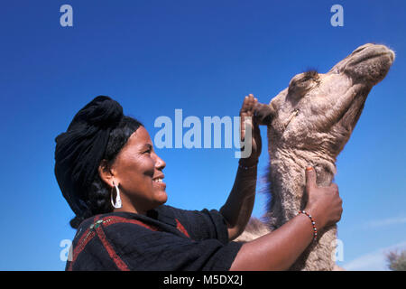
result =
[{"label": "smiling woman in black turban and robe petting the camel", "polygon": [[[252,126],[252,154],[240,159],[235,183],[220,210],[180,210],[164,205],[162,172],[144,126],[123,115],[113,99],[97,97],[56,137],[55,175],[76,218],[67,270],[285,270],[318,229],[341,218],[336,184],[318,188],[307,170],[308,204],[281,228],[245,244],[232,242],[254,206],[261,135],[257,99],[245,97],[241,135]],[[198,196],[195,196],[198,198]],[[312,218],[309,218],[309,213]]]}]

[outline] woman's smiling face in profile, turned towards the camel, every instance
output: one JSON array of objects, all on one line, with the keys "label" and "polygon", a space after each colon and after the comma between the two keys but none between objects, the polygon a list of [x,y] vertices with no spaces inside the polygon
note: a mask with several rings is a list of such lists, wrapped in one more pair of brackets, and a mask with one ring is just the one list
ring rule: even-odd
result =
[{"label": "woman's smiling face in profile, turned towards the camel", "polygon": [[131,135],[111,166],[118,183],[122,210],[145,214],[166,202],[166,184],[161,172],[166,163],[155,154],[151,137],[143,126]]}]

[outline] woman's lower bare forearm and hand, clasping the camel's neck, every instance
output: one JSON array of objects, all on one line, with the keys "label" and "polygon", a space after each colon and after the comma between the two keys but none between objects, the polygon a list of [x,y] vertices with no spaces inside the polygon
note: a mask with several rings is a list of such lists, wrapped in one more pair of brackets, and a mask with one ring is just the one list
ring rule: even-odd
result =
[{"label": "woman's lower bare forearm and hand, clasping the camel's neck", "polygon": [[[307,210],[316,219],[316,227],[337,223],[343,212],[337,184],[318,187],[314,169],[306,171]],[[301,214],[300,214],[301,215]],[[271,233],[247,242],[235,256],[230,270],[288,270],[313,240],[309,218],[292,218]]]}]

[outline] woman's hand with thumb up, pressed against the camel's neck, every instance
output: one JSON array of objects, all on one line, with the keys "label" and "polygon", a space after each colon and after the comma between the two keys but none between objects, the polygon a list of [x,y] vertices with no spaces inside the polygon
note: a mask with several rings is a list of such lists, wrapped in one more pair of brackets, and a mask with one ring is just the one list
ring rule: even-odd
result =
[{"label": "woman's hand with thumb up, pressed against the camel's neck", "polygon": [[336,224],[341,219],[343,200],[337,184],[333,182],[329,187],[318,187],[316,172],[311,167],[306,169],[306,192],[308,203],[305,210],[316,219],[318,228]]}]

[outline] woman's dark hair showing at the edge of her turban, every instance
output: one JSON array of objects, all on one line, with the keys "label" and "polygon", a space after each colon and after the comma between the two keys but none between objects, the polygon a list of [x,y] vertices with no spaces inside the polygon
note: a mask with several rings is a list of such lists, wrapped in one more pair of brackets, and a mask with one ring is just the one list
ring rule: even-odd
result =
[{"label": "woman's dark hair showing at the edge of her turban", "polygon": [[[138,120],[132,117],[123,117],[120,124],[115,127],[109,135],[106,152],[103,160],[107,163],[114,163],[116,155],[121,151],[128,141],[128,138],[138,129],[143,126]],[[84,220],[97,214],[103,214],[113,211],[113,206],[110,202],[110,189],[104,182],[98,172],[95,179],[88,188],[88,200],[86,201],[88,210],[81,216],[76,216],[71,219],[69,224],[72,228],[78,228],[78,225]]]}]

